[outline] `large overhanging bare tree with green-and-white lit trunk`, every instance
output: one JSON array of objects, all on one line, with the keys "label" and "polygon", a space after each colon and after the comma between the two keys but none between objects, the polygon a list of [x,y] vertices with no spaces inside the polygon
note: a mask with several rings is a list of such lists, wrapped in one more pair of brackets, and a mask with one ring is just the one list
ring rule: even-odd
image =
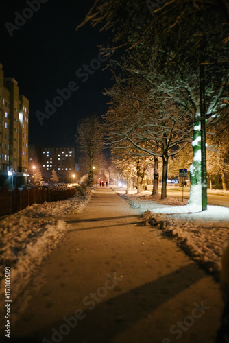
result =
[{"label": "large overhanging bare tree with green-and-white lit trunk", "polygon": [[[144,78],[154,82],[155,92],[193,115],[189,203],[201,204],[202,185],[206,182],[201,177],[206,167],[204,123],[219,117],[229,103],[225,93],[228,5],[224,0],[162,1],[156,8],[150,4],[145,0],[97,0],[82,25],[89,22],[93,26],[102,24],[104,30],[112,29],[114,45],[130,47],[143,60],[145,57]],[[139,67],[133,69],[139,75]],[[142,69],[140,73],[144,74]]]}]

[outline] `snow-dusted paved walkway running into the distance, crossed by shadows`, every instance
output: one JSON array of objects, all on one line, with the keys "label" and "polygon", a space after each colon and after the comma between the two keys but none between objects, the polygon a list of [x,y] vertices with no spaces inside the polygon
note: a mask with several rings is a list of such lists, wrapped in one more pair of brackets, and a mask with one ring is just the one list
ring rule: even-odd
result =
[{"label": "snow-dusted paved walkway running into the distance, crossed by shadows", "polygon": [[64,241],[12,305],[12,337],[23,343],[214,342],[223,307],[219,285],[173,241],[137,226],[138,211],[127,201],[103,187],[66,221]]}]

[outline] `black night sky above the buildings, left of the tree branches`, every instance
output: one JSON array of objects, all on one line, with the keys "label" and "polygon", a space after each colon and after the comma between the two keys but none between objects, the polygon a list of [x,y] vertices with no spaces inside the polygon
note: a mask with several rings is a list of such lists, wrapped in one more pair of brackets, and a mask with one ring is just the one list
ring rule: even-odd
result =
[{"label": "black night sky above the buildings, left of the tree branches", "polygon": [[[94,1],[43,0],[37,12],[25,11],[33,1],[38,2],[1,1],[0,63],[4,75],[14,77],[19,82],[19,92],[29,99],[29,143],[75,147],[79,119],[95,112],[102,115],[108,108],[108,98],[101,94],[105,87],[112,86],[110,71],[103,70],[108,62],[101,62],[93,75],[88,74],[88,80],[76,75],[84,64],[97,60],[97,46],[107,46],[108,35],[89,26],[75,31]],[[22,25],[21,21],[16,22],[15,12],[32,16]],[[21,27],[16,25],[19,29],[14,29],[5,23],[19,23]],[[93,63],[97,68],[98,63]],[[67,88],[72,81],[77,83],[77,91],[71,91],[71,97],[49,119],[43,118],[40,125],[36,111],[45,113],[45,101],[53,102],[58,96],[56,89]]]}]

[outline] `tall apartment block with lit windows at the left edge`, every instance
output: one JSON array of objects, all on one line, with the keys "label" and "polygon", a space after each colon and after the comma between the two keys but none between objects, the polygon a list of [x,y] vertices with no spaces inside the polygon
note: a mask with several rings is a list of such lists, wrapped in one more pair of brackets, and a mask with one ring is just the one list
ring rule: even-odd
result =
[{"label": "tall apartment block with lit windows at the left edge", "polygon": [[21,185],[28,171],[29,101],[0,64],[0,185]]}]

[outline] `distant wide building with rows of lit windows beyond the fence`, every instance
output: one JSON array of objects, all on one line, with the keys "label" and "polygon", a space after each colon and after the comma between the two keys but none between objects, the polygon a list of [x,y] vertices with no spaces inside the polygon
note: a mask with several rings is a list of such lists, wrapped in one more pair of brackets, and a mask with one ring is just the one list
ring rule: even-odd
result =
[{"label": "distant wide building with rows of lit windows beyond the fence", "polygon": [[75,174],[75,149],[73,147],[40,147],[38,160],[43,178],[48,181],[53,169],[62,182],[73,182]]}]

